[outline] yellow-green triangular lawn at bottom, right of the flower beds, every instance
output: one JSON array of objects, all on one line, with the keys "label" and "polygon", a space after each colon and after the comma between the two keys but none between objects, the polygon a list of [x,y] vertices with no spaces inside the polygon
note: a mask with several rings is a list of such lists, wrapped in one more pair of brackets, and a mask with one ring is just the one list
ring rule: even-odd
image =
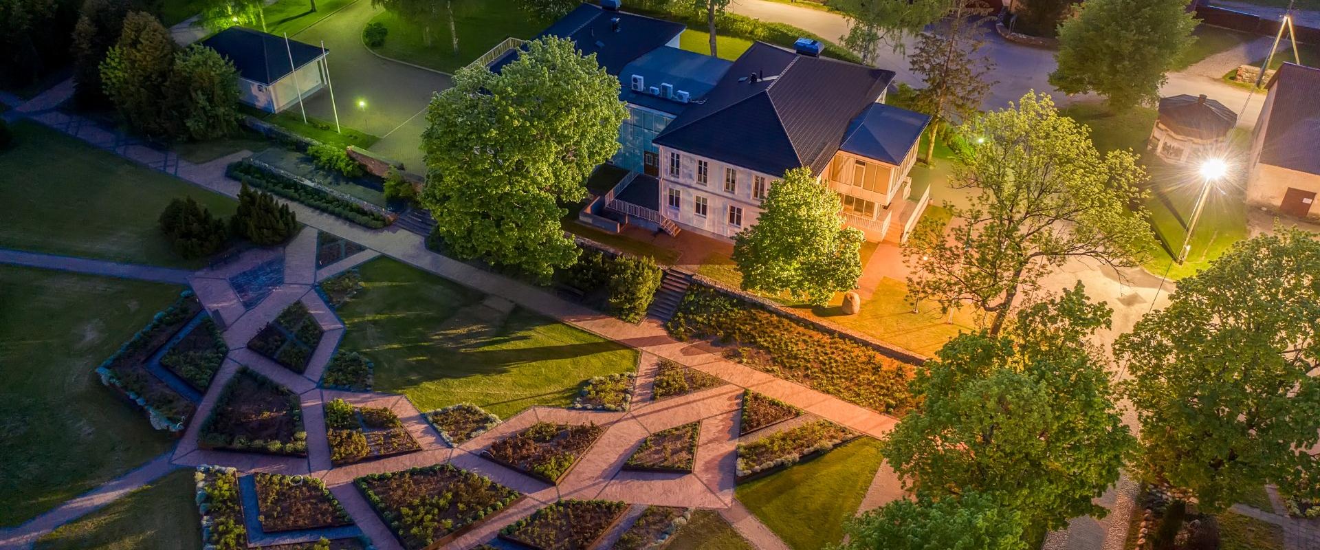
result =
[{"label": "yellow-green triangular lawn at bottom, right of the flower beds", "polygon": [[738,500],[793,550],[843,538],[880,467],[880,442],[861,438],[814,460],[738,485]]}]

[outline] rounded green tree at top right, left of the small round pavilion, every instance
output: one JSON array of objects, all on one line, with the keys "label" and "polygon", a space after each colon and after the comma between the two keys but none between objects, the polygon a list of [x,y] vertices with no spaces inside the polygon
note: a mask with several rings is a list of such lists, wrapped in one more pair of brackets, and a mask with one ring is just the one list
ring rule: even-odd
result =
[{"label": "rounded green tree at top right, left of the small round pavilion", "polygon": [[1068,94],[1096,92],[1111,109],[1159,99],[1164,74],[1192,45],[1188,0],[1086,0],[1059,26],[1059,69],[1049,83]]}]

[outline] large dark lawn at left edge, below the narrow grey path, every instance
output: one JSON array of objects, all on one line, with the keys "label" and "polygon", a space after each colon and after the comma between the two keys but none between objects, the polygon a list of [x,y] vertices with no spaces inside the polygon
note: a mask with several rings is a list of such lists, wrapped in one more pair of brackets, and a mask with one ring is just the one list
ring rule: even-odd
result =
[{"label": "large dark lawn at left edge, below the narrow grey path", "polygon": [[173,302],[180,286],[0,266],[0,528],[165,452],[92,371]]}]

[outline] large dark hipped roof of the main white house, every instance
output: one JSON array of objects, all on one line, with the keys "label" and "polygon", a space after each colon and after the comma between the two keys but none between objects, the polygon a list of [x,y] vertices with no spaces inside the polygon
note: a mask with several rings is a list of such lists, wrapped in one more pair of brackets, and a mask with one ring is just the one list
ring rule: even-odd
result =
[{"label": "large dark hipped roof of the main white house", "polygon": [[756,42],[653,142],[771,175],[801,166],[818,174],[892,79],[894,71]]}]

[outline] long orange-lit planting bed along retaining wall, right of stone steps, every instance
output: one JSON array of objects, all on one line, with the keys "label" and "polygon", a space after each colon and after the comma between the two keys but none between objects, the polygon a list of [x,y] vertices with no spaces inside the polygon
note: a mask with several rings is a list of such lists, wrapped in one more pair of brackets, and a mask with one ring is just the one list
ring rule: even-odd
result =
[{"label": "long orange-lit planting bed along retaining wall, right of stone steps", "polygon": [[680,340],[729,344],[730,359],[876,412],[912,406],[912,365],[709,288],[692,286],[665,326]]}]

